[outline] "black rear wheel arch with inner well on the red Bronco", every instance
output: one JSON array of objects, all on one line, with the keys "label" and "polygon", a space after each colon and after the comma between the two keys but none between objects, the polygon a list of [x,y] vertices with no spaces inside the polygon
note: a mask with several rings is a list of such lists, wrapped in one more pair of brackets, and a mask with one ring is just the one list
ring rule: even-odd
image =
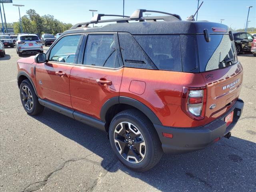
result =
[{"label": "black rear wheel arch with inner well on the red Bronco", "polygon": [[142,102],[129,98],[129,97],[113,97],[107,100],[100,111],[100,119],[106,122],[105,128],[108,132],[108,127],[112,118],[119,112],[127,109],[136,109],[142,112],[153,124],[162,125],[159,118],[154,114],[154,112],[148,108]]}]

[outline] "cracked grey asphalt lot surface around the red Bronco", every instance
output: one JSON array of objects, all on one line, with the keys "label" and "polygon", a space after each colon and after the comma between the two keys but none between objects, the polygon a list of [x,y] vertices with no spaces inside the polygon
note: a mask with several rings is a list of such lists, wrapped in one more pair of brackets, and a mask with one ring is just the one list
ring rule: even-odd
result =
[{"label": "cracked grey asphalt lot surface around the red Bronco", "polygon": [[145,173],[114,156],[108,138],[90,126],[45,109],[28,116],[16,82],[15,48],[0,58],[1,192],[256,192],[256,57],[244,67],[244,110],[230,139],[197,152],[164,155]]}]

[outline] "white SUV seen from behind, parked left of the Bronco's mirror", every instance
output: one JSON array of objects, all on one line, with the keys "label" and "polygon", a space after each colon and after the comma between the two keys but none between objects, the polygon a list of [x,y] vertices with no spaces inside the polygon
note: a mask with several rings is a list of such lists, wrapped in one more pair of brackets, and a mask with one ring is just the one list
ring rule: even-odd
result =
[{"label": "white SUV seen from behind, parked left of the Bronco's mirror", "polygon": [[20,34],[16,41],[16,51],[19,56],[23,53],[43,53],[43,45],[36,34]]}]

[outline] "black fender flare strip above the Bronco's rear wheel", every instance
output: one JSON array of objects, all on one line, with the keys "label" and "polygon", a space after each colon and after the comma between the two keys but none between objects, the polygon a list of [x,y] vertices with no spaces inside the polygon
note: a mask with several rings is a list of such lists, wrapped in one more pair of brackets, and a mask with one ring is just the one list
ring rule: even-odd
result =
[{"label": "black fender flare strip above the Bronco's rear wheel", "polygon": [[150,108],[148,108],[148,106],[146,106],[145,104],[136,99],[124,96],[110,98],[103,104],[100,111],[100,119],[102,121],[106,122],[105,116],[108,109],[116,104],[127,104],[133,106],[134,108],[137,108],[138,110],[142,111],[152,121],[153,124],[162,125],[159,118],[156,116],[154,112],[152,112]]}]

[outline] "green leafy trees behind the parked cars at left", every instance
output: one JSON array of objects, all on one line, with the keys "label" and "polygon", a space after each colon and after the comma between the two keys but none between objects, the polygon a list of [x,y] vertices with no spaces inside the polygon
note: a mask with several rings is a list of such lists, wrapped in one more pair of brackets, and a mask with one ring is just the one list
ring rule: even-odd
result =
[{"label": "green leafy trees behind the parked cars at left", "polygon": [[[62,33],[72,27],[72,24],[63,23],[55,19],[52,15],[40,16],[35,10],[30,9],[26,11],[26,15],[22,16],[22,29],[24,33],[37,34],[56,34]],[[20,33],[20,22],[8,23],[7,27],[13,27],[14,33]]]}]

